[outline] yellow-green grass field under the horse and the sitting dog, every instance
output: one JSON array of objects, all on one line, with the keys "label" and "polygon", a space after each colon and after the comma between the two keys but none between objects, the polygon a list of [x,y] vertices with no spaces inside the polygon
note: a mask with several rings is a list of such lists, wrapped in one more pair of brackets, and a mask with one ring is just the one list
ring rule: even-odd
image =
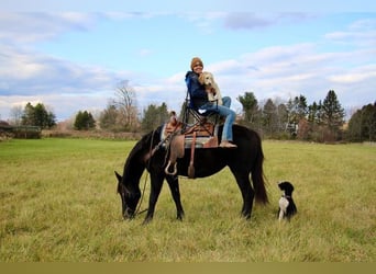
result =
[{"label": "yellow-green grass field under the horse and the sitting dog", "polygon": [[[240,218],[241,194],[224,169],[180,179],[183,222],[164,187],[153,222],[141,226],[144,216],[122,220],[113,174],[134,144],[0,142],[0,261],[375,262],[375,146],[264,141],[270,204],[256,205],[251,221]],[[279,224],[284,179],[299,213]]]}]

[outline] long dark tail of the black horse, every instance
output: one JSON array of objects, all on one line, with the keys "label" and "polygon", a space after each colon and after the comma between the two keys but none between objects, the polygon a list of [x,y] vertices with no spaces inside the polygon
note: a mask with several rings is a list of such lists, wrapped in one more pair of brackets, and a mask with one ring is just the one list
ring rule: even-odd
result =
[{"label": "long dark tail of the black horse", "polygon": [[258,148],[256,151],[255,163],[252,169],[252,182],[253,182],[253,187],[255,189],[256,202],[261,204],[267,204],[269,203],[269,199],[267,197],[267,192],[266,192],[266,186],[265,186],[265,175],[264,175],[264,170],[263,170],[264,152],[263,152],[259,137],[258,137],[257,142],[258,142],[257,145]]}]

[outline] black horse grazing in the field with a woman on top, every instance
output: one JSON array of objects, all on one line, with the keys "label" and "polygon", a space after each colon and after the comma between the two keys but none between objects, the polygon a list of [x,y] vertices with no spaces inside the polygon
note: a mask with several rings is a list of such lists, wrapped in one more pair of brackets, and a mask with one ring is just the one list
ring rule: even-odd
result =
[{"label": "black horse grazing in the field with a woman on top", "polygon": [[[162,127],[158,127],[156,130],[143,136],[131,150],[124,164],[123,175],[121,176],[115,172],[118,193],[121,196],[124,219],[131,219],[136,214],[136,207],[141,197],[140,179],[145,169],[147,169],[151,176],[151,193],[144,222],[153,219],[155,205],[165,179],[176,205],[177,219],[183,219],[184,217],[178,176],[165,173],[166,153],[168,153],[168,150],[161,146],[161,130]],[[218,132],[222,133],[222,128],[219,128]],[[196,149],[195,175],[196,178],[210,176],[228,165],[235,176],[242,193],[242,216],[245,219],[250,219],[254,197],[256,202],[268,203],[263,173],[264,155],[261,138],[254,130],[244,126],[233,125],[233,137],[234,144],[237,145],[235,149]],[[189,163],[190,151],[187,149],[184,158],[177,160],[177,174],[187,176]],[[250,181],[250,173],[253,187]]]}]

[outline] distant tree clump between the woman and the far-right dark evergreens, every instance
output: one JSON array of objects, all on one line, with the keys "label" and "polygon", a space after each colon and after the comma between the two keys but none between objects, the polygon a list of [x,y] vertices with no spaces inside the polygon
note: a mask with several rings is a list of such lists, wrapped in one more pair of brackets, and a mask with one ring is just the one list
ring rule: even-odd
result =
[{"label": "distant tree clump between the woman and the far-right dark evergreens", "polygon": [[330,90],[323,103],[308,105],[303,95],[277,103],[268,99],[263,106],[253,92],[237,98],[243,106],[242,123],[267,138],[298,138],[302,140],[333,141],[342,137],[344,110],[336,94]]}]

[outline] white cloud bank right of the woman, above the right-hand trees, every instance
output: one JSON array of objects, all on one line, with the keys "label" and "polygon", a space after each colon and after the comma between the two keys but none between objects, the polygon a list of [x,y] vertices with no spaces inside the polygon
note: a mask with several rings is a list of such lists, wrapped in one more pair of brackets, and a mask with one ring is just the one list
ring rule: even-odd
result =
[{"label": "white cloud bank right of the woman, above the right-hand trees", "polygon": [[245,91],[254,92],[257,100],[303,94],[312,103],[334,89],[344,106],[375,101],[375,49],[322,52],[320,43],[265,47],[208,68],[232,98]]}]

